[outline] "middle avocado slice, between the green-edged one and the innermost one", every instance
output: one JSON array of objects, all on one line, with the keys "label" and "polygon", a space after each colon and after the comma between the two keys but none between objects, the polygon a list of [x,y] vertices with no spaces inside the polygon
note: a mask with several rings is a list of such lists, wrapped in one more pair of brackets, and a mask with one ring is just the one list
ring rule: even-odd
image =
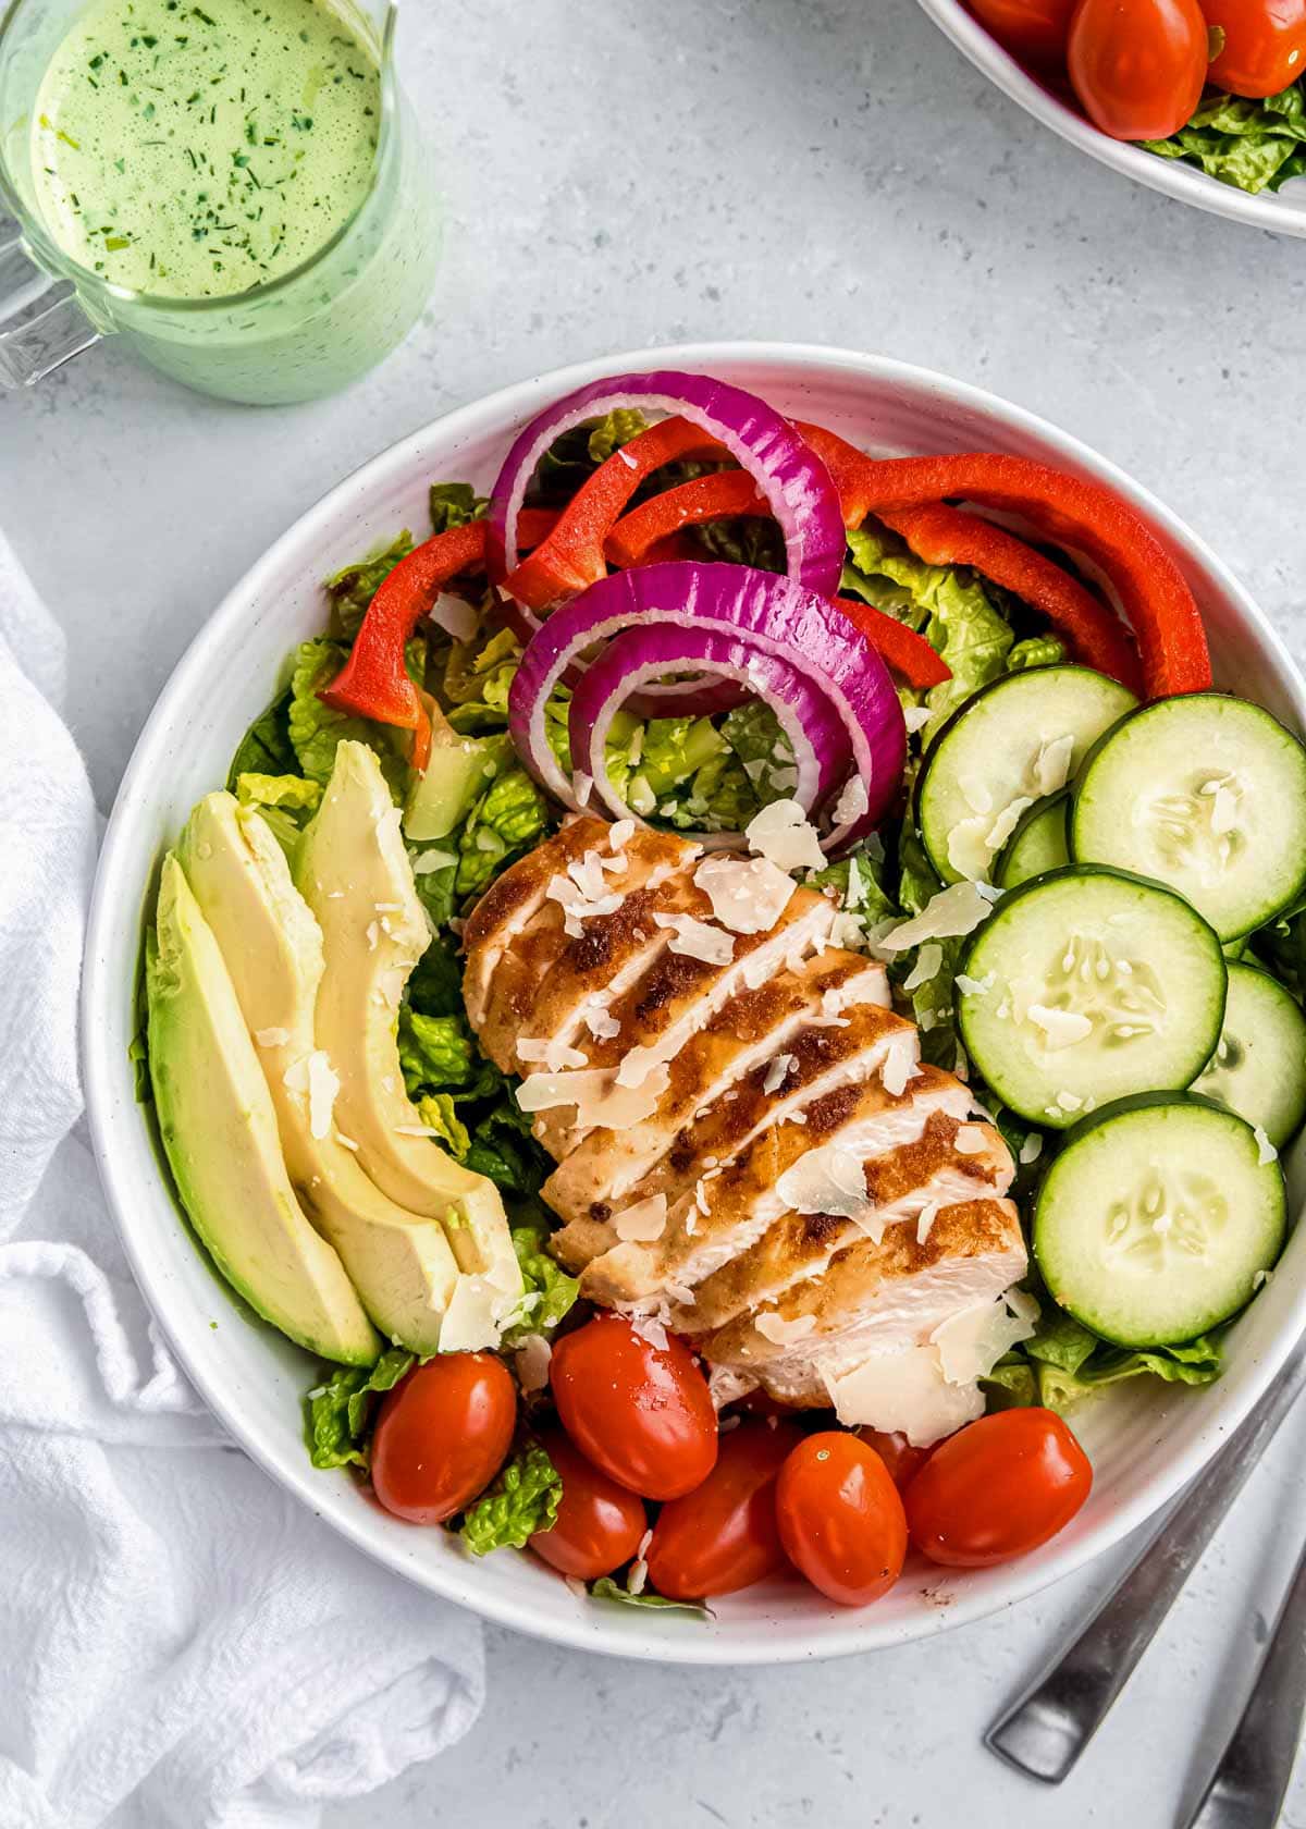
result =
[{"label": "middle avocado slice, between the green-edged one and the innermost one", "polygon": [[258,1044],[304,1209],[340,1253],[380,1332],[410,1352],[439,1352],[457,1264],[439,1222],[388,1200],[326,1108],[331,1063],[313,1033],[322,929],[291,882],[285,852],[254,807],[209,794],[190,814],[177,856]]}]

